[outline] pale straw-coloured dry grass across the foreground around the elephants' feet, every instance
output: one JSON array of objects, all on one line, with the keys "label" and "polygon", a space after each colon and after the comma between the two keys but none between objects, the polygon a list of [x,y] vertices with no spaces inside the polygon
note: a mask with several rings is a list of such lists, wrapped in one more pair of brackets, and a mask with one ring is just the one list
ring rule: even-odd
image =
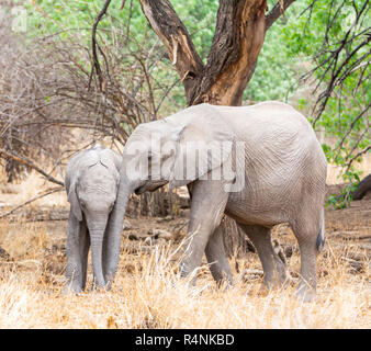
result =
[{"label": "pale straw-coloured dry grass across the foreground around the elephants' feet", "polygon": [[[236,272],[235,286],[222,292],[206,265],[192,288],[179,278],[178,260],[171,256],[176,247],[169,245],[154,247],[149,254],[122,251],[111,292],[65,297],[65,228],[53,230],[46,223],[1,222],[0,246],[15,262],[0,263],[0,328],[371,327],[370,262],[366,259],[366,271],[353,274],[340,259],[344,250],[359,253],[357,248],[329,242],[318,258],[318,298],[312,304],[296,301],[294,286],[265,292],[260,279],[244,282]],[[260,263],[251,253],[239,267],[260,269]],[[296,251],[290,269],[299,270]]]}]

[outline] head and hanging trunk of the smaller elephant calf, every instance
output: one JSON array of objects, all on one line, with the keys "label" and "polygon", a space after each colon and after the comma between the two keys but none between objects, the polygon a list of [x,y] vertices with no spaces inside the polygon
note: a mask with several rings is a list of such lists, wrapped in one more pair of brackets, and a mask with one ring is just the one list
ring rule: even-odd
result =
[{"label": "head and hanging trunk of the smaller elephant calf", "polygon": [[117,158],[119,155],[112,150],[95,147],[78,155],[66,171],[70,212],[78,222],[85,220],[87,224],[94,280],[101,286],[105,285],[102,270],[103,237],[120,181]]}]

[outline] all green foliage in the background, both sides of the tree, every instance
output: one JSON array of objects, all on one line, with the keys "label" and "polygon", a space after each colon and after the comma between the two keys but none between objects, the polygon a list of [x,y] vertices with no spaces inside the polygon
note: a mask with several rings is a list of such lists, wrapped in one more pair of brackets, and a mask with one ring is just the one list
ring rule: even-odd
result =
[{"label": "all green foliage in the background, both sides of the tree", "polygon": [[[142,13],[139,1],[126,0],[121,10],[122,1],[112,1],[108,15],[99,24],[99,41],[105,46],[116,41],[112,29],[120,29],[116,35],[128,35],[131,41],[125,43],[127,47],[120,49],[150,50],[154,45],[161,47],[161,43],[150,30],[146,18]],[[217,0],[183,0],[171,2],[191,34],[194,46],[205,63],[212,44]],[[269,10],[277,0],[269,0]],[[351,188],[359,180],[359,173],[349,166],[350,160],[370,145],[368,132],[369,112],[362,114],[364,107],[370,105],[371,80],[370,77],[370,46],[363,46],[357,50],[349,60],[341,66],[347,55],[351,53],[370,35],[371,16],[366,15],[355,25],[352,33],[359,33],[352,41],[346,43],[340,50],[338,59],[330,69],[323,65],[330,55],[337,50],[339,42],[352,27],[358,11],[364,0],[301,0],[295,1],[267,32],[265,45],[259,55],[255,75],[246,88],[245,103],[263,100],[288,101],[300,111],[308,115],[314,122],[317,117],[313,112],[316,95],[331,81],[331,75],[337,69],[349,72],[347,77],[336,84],[331,91],[326,109],[322,111],[316,122],[316,128],[325,129],[326,136],[335,136],[335,145],[323,145],[327,160],[346,170],[344,181],[350,182],[350,188],[345,190],[342,200],[337,203],[348,203],[351,199]],[[91,26],[94,18],[102,9],[104,0],[78,0],[53,1],[33,0],[26,2],[29,13],[29,35],[38,37],[58,33],[64,39],[78,38],[81,43],[91,45]],[[307,9],[307,11],[304,11]],[[130,23],[127,23],[127,19]],[[330,25],[329,25],[330,24]],[[362,34],[363,33],[363,34]],[[156,44],[157,43],[157,44]],[[173,67],[169,65],[166,52],[161,48],[161,57],[158,65],[153,68],[151,75],[158,82],[169,86],[179,77]],[[85,63],[90,67],[90,63]],[[363,65],[363,66],[362,66]],[[312,82],[299,86],[300,77],[318,66],[314,72]],[[342,67],[342,68],[341,68]],[[353,69],[353,70],[352,70]],[[362,78],[361,77],[361,78]],[[317,90],[314,91],[315,86]],[[186,105],[182,84],[178,82],[169,94],[169,101],[162,113],[173,112]],[[358,117],[360,116],[361,117]],[[355,159],[358,161],[360,158]],[[335,197],[329,201],[335,204]],[[335,206],[335,205],[334,205]]]}]

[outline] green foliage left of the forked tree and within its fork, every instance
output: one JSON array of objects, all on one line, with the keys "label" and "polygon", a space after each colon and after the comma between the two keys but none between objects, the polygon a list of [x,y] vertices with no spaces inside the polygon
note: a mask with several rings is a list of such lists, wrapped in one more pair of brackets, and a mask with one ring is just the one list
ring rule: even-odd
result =
[{"label": "green foliage left of the forked tree and within its fork", "polygon": [[[25,5],[29,14],[29,34],[32,37],[56,34],[67,41],[76,41],[78,37],[82,45],[91,47],[91,27],[104,2],[104,0],[59,1],[58,3],[53,0],[34,0],[27,2]],[[113,45],[116,38],[111,29],[115,27],[116,35],[130,36],[130,41],[120,48],[122,50],[148,52],[155,45],[161,47],[162,58],[153,69],[153,75],[157,81],[164,82],[164,87],[171,86],[179,80],[178,73],[170,65],[165,48],[143,14],[139,1],[133,0],[131,3],[126,0],[123,10],[121,10],[121,4],[122,1],[111,2],[108,15],[103,16],[99,24],[99,42],[105,43],[106,46]],[[187,0],[172,1],[172,4],[188,29],[200,57],[205,61],[214,34],[218,1]],[[128,19],[130,23],[127,23]],[[91,69],[91,63],[85,63],[85,65]],[[173,102],[173,107],[171,111],[166,109],[162,114],[172,113],[186,105],[184,89],[181,82],[178,82],[171,90],[169,99]]]}]

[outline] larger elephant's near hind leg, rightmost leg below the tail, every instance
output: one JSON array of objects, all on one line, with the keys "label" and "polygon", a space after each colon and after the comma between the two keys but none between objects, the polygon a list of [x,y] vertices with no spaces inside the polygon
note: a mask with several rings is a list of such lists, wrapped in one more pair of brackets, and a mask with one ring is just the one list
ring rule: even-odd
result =
[{"label": "larger elephant's near hind leg, rightmost leg below the tail", "polygon": [[[322,216],[318,220],[313,220],[315,216],[306,216],[311,218],[297,220],[292,225],[294,235],[297,239],[301,258],[301,282],[297,287],[297,297],[304,302],[311,302],[316,296],[317,286],[317,240],[321,230],[323,230]],[[312,222],[313,220],[313,222]]]}]

